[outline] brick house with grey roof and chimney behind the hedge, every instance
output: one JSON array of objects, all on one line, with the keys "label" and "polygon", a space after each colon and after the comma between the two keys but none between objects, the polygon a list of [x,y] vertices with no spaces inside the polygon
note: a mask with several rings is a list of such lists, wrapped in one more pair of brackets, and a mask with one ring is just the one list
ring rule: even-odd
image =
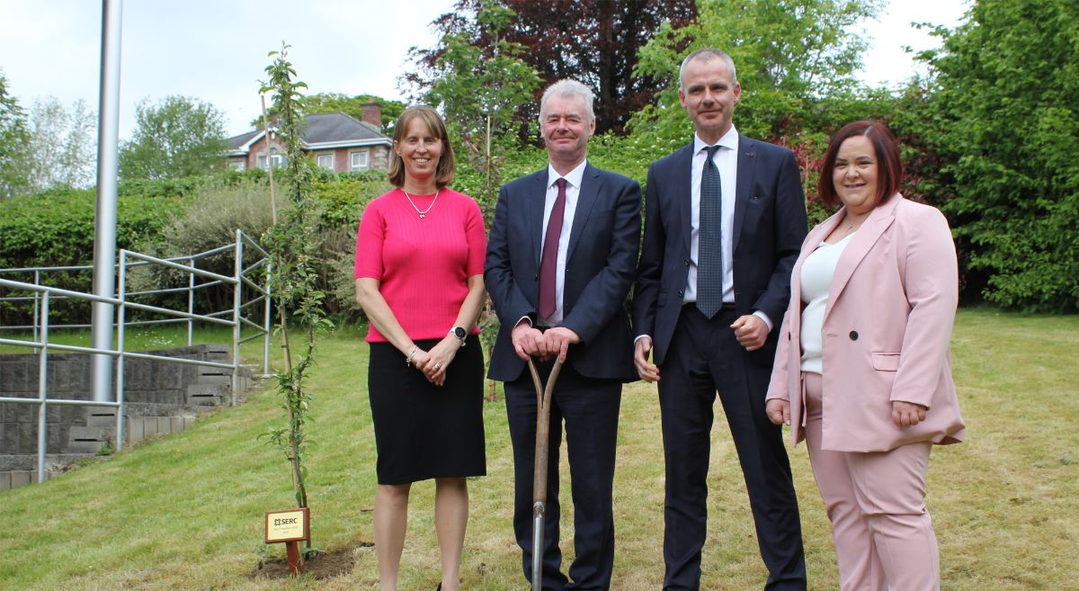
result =
[{"label": "brick house with grey roof and chimney behind the hedge", "polygon": [[[334,173],[386,170],[393,140],[381,129],[382,108],[377,102],[364,105],[364,121],[344,113],[308,115],[303,127],[303,149],[315,164]],[[279,165],[285,148],[271,128],[270,153],[261,129],[229,138],[228,164],[236,170],[265,168],[267,157]]]}]

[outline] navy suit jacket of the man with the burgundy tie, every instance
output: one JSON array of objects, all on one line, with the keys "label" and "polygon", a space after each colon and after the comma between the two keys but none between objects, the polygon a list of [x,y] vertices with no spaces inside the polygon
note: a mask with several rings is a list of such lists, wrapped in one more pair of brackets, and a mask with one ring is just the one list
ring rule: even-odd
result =
[{"label": "navy suit jacket of the man with the burgundy tie", "polygon": [[[540,294],[547,168],[504,184],[487,244],[483,280],[502,322],[490,377],[511,382],[524,370],[510,331],[535,320]],[[586,377],[637,380],[626,296],[641,242],[641,185],[586,165],[570,231],[562,326],[577,333],[566,362]]]}]

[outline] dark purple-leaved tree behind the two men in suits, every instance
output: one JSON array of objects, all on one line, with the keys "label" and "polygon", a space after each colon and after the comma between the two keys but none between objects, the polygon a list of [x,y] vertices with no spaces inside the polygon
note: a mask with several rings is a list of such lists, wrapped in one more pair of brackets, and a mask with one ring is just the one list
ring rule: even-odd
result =
[{"label": "dark purple-leaved tree behind the two men in suits", "polygon": [[[484,8],[495,5],[515,15],[496,38],[478,19]],[[443,79],[448,72],[439,59],[450,51],[446,41],[451,38],[467,39],[484,58],[494,56],[496,41],[516,43],[525,47],[521,59],[545,84],[573,78],[588,85],[596,94],[597,132],[620,133],[629,116],[663,86],[661,79],[634,75],[638,50],[661,23],[679,27],[695,15],[693,0],[459,0],[454,12],[433,23],[442,32],[442,42],[432,49],[412,47],[410,55],[420,68],[405,80],[426,90]],[[535,98],[538,92],[542,87]],[[520,121],[534,121],[540,114],[537,101],[517,106],[517,113]]]}]

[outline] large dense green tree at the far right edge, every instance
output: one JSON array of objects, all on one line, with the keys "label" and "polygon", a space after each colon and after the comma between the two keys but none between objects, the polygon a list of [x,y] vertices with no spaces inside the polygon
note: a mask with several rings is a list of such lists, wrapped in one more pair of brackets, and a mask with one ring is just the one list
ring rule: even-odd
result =
[{"label": "large dense green tree at the far right edge", "polygon": [[923,122],[984,297],[1079,310],[1079,3],[981,0],[937,32]]}]

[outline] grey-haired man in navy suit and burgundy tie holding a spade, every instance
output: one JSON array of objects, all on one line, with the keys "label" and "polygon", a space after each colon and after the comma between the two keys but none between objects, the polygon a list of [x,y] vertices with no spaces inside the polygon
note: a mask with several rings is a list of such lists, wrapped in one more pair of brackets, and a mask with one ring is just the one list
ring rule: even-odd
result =
[{"label": "grey-haired man in navy suit and burgundy tie holding a spade", "polygon": [[[532,580],[543,552],[545,591],[607,591],[614,564],[615,440],[622,384],[637,380],[626,296],[641,231],[641,188],[586,160],[596,130],[592,93],[556,82],[543,95],[540,126],[548,166],[502,188],[483,279],[502,326],[490,376],[505,382],[514,445],[514,534]],[[564,359],[550,406],[543,549],[532,548],[536,402],[525,369]],[[576,555],[569,577],[559,549],[558,458],[562,424],[573,485]],[[770,423],[769,423],[770,424]]]}]

